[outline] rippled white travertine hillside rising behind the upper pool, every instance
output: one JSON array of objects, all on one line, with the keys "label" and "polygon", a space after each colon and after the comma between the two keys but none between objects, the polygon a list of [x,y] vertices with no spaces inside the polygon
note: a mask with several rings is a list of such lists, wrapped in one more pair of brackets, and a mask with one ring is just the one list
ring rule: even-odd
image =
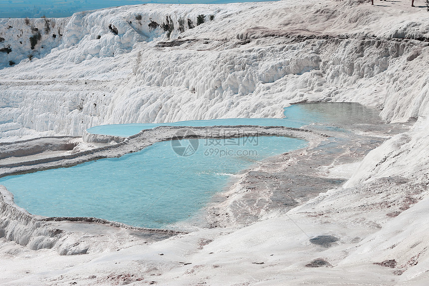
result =
[{"label": "rippled white travertine hillside rising behind the upper pool", "polygon": [[[17,64],[0,70],[0,140],[113,123],[280,117],[304,99],[384,106],[388,121],[418,117],[428,105],[428,55],[426,42],[408,39],[429,37],[428,18],[403,9],[148,4],[49,19],[48,34],[43,19],[3,19],[0,45],[12,51],[1,64]],[[199,14],[206,22],[196,26]],[[42,34],[34,50],[32,26]],[[160,43],[169,33],[176,40]]]}]

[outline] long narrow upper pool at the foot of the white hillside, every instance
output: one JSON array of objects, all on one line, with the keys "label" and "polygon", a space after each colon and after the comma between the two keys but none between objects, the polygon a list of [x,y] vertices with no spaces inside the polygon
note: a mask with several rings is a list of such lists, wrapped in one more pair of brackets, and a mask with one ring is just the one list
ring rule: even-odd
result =
[{"label": "long narrow upper pool at the foot of the white hillside", "polygon": [[383,123],[376,108],[350,102],[311,102],[294,104],[284,109],[284,118],[226,118],[191,120],[172,123],[138,123],[100,125],[87,129],[91,134],[128,137],[143,129],[157,126],[215,126],[215,125],[260,125],[299,128],[313,123],[343,124]]}]

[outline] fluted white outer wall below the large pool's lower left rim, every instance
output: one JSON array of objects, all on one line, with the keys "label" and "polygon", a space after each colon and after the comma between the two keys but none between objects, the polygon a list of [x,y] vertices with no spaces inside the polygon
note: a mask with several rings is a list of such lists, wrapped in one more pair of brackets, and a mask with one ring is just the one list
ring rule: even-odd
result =
[{"label": "fluted white outer wall below the large pool's lower left rim", "polygon": [[[27,210],[19,207],[13,200],[13,194],[6,187],[0,185],[0,238],[6,242],[14,242],[20,246],[27,247],[30,250],[51,249],[59,255],[78,255],[100,252],[103,247],[116,249],[121,246],[122,241],[136,241],[137,244],[147,244],[168,239],[172,236],[185,235],[187,232],[169,230],[169,229],[150,229],[139,228],[130,225],[111,222],[97,218],[53,218],[30,214]],[[101,225],[116,229],[119,237],[111,238],[110,242],[104,242],[109,237],[107,229],[105,233],[96,237],[105,237],[104,240],[96,239],[97,243],[91,241],[93,236],[85,231],[70,231],[64,229],[61,224],[54,225],[49,222],[70,223],[85,222],[92,226]],[[141,232],[147,237],[143,239],[130,238],[129,231]],[[78,246],[80,244],[80,247]]]}]

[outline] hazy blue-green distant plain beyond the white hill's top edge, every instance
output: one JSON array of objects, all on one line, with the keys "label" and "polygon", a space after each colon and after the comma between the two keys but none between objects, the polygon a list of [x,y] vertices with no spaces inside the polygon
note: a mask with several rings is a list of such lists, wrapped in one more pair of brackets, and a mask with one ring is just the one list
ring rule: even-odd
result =
[{"label": "hazy blue-green distant plain beyond the white hill's top edge", "polygon": [[68,17],[75,12],[143,3],[231,3],[263,0],[0,0],[0,18]]}]

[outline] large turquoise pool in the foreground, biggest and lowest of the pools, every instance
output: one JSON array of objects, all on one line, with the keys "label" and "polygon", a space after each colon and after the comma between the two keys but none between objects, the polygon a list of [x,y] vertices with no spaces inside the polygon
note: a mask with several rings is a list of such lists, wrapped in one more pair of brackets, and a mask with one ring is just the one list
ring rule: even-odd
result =
[{"label": "large turquoise pool in the foreground, biggest and lowest of the pools", "polygon": [[286,137],[194,140],[199,147],[188,157],[174,152],[172,142],[178,141],[165,141],[120,158],[4,177],[0,184],[32,214],[163,228],[194,215],[232,174],[306,146],[304,140]]}]

